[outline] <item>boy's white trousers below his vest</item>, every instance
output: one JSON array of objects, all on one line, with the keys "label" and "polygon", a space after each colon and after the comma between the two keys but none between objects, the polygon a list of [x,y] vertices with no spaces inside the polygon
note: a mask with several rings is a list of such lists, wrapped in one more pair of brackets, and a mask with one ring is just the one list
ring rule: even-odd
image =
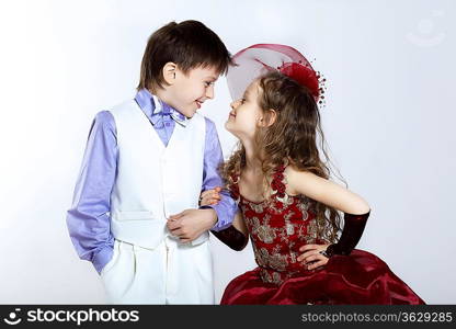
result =
[{"label": "boy's white trousers below his vest", "polygon": [[209,242],[166,237],[153,249],[121,240],[101,272],[107,304],[214,304]]}]

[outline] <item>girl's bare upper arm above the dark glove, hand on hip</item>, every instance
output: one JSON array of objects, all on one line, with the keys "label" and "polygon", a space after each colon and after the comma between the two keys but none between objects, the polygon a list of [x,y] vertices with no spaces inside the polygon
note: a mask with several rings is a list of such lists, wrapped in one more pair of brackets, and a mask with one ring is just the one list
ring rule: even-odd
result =
[{"label": "girl's bare upper arm above the dark glove, hand on hip", "polygon": [[288,166],[285,170],[290,194],[303,194],[338,211],[365,214],[369,205],[360,195],[311,172],[298,171]]}]

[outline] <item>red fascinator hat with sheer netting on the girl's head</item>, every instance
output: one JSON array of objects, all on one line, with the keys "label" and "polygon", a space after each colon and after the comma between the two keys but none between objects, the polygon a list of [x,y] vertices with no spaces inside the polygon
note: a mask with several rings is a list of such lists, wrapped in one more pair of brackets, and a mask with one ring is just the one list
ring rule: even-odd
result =
[{"label": "red fascinator hat with sheer netting on the girl's head", "polygon": [[309,89],[315,100],[322,103],[324,81],[310,63],[293,47],[277,44],[258,44],[238,52],[227,73],[232,100],[242,98],[247,87],[258,77],[271,70],[294,79]]}]

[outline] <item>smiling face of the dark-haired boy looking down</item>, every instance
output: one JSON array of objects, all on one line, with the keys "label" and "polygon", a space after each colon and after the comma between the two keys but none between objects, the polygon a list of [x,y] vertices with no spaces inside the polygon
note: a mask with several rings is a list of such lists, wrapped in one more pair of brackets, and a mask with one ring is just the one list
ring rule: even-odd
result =
[{"label": "smiling face of the dark-haired boy looking down", "polygon": [[167,88],[169,104],[186,117],[193,117],[202,104],[214,98],[214,83],[219,73],[212,67],[197,67],[186,75],[175,69],[175,79]]}]

